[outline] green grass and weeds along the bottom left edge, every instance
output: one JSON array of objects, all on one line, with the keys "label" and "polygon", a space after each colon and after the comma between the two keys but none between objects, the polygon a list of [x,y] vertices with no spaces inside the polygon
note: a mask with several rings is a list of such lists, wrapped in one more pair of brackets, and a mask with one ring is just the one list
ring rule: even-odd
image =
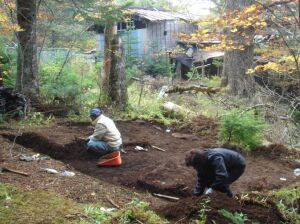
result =
[{"label": "green grass and weeds along the bottom left edge", "polygon": [[168,222],[149,210],[148,203],[137,198],[123,208],[113,210],[100,205],[82,205],[47,191],[24,191],[0,183],[0,223],[167,224]]}]

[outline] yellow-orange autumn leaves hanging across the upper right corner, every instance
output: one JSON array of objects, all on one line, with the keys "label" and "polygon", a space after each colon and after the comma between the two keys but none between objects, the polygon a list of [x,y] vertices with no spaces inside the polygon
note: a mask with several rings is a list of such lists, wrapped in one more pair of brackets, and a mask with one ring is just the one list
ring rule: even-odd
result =
[{"label": "yellow-orange autumn leaves hanging across the upper right corner", "polygon": [[[297,0],[255,1],[244,9],[223,10],[198,22],[197,32],[181,34],[181,41],[203,50],[244,50],[254,45],[259,58],[246,74],[280,75],[300,81],[299,12]],[[256,41],[255,37],[268,37]],[[214,43],[207,45],[207,43]]]}]

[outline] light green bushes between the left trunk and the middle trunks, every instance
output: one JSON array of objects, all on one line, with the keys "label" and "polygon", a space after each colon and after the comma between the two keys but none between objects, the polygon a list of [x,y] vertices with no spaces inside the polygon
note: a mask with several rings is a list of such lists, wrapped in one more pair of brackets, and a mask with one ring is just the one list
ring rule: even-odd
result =
[{"label": "light green bushes between the left trunk and the middle trunks", "polygon": [[[74,58],[62,72],[62,62],[42,64],[39,68],[40,96],[45,104],[67,106],[75,111],[97,100],[92,91],[97,85],[96,67]],[[59,74],[60,73],[60,74]]]}]

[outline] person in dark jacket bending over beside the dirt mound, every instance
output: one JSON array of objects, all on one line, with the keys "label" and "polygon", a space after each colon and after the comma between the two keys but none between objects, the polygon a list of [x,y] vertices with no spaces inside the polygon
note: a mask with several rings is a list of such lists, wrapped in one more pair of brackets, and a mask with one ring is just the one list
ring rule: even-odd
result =
[{"label": "person in dark jacket bending over beside the dirt mound", "polygon": [[194,195],[202,195],[207,188],[206,194],[216,190],[233,197],[229,186],[244,173],[246,167],[241,154],[225,148],[190,150],[185,163],[197,171]]}]

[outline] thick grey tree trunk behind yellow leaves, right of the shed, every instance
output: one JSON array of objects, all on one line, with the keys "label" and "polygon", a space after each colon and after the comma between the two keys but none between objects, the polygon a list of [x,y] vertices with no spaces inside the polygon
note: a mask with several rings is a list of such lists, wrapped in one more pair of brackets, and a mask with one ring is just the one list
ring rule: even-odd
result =
[{"label": "thick grey tree trunk behind yellow leaves, right of the shed", "polygon": [[[253,4],[252,0],[229,0],[226,10],[231,12]],[[244,30],[246,35],[254,36],[254,30]],[[232,35],[232,34],[229,34]],[[245,43],[242,36],[232,36],[232,40],[239,44]],[[229,87],[229,93],[238,96],[251,96],[255,91],[255,82],[252,76],[246,74],[253,65],[253,43],[245,43],[243,50],[232,49],[225,52],[221,86]]]}]

